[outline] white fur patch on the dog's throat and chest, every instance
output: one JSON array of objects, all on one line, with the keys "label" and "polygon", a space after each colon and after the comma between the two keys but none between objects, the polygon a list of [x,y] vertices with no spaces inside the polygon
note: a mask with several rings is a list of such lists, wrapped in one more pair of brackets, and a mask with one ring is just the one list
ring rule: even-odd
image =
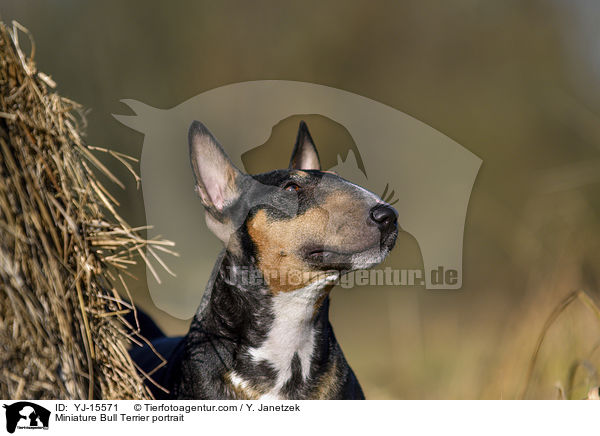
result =
[{"label": "white fur patch on the dog's throat and chest", "polygon": [[[267,339],[257,348],[249,350],[256,363],[266,361],[275,369],[277,378],[273,387],[261,399],[281,399],[281,390],[292,377],[292,360],[298,355],[302,380],[310,374],[315,347],[316,329],[313,326],[315,304],[322,296],[327,280],[319,281],[291,292],[281,292],[273,297],[275,316]],[[237,374],[231,381],[240,388],[247,383]]]}]

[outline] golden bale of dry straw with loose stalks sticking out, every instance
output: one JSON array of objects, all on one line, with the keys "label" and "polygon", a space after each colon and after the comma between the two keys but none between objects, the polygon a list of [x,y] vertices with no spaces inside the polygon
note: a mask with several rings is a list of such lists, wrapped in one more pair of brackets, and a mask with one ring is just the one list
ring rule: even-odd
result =
[{"label": "golden bale of dry straw with loose stalks sticking out", "polygon": [[82,142],[79,105],[51,92],[19,35],[0,23],[0,397],[150,398],[115,284],[172,244],[116,213],[91,166],[121,183]]}]

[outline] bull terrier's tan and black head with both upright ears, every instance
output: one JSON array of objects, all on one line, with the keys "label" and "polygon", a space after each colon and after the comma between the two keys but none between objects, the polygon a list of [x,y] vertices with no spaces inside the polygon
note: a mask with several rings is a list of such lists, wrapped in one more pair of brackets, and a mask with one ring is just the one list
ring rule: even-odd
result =
[{"label": "bull terrier's tan and black head with both upright ears", "polygon": [[208,227],[241,264],[257,266],[273,292],[372,267],[393,248],[397,212],[321,171],[303,122],[289,168],[258,175],[236,168],[202,123],[192,123],[188,138]]}]

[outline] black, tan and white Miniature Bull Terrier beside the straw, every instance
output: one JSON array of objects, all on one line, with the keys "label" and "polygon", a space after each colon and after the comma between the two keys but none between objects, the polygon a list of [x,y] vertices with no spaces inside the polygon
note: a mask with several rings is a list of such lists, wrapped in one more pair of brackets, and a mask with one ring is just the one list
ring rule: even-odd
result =
[{"label": "black, tan and white Miniature Bull Terrier beside the straw", "polygon": [[[225,248],[184,337],[139,313],[152,346],[130,353],[155,398],[364,399],[329,322],[329,293],[342,274],[384,260],[396,210],[321,171],[304,122],[289,168],[259,175],[236,168],[198,121],[188,141],[206,223]],[[156,371],[152,348],[167,360]]]}]

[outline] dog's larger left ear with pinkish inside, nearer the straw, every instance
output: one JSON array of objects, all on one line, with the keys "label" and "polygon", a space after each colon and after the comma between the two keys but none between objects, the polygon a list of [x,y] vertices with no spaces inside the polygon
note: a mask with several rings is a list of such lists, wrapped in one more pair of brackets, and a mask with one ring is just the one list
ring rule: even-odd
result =
[{"label": "dog's larger left ear with pinkish inside, nearer the straw", "polygon": [[194,121],[190,126],[188,143],[196,192],[204,207],[218,215],[239,198],[243,173],[200,121]]}]

